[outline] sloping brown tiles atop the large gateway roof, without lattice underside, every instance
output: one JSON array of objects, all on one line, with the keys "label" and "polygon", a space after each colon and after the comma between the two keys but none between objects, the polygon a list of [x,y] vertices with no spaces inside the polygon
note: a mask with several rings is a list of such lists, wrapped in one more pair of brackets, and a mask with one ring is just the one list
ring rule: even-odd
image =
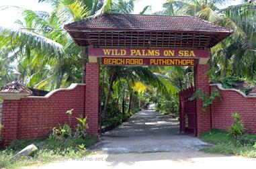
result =
[{"label": "sloping brown tiles atop the large gateway roof, without lattice underside", "polygon": [[66,30],[153,30],[171,32],[232,33],[225,27],[197,17],[165,15],[103,14],[65,25]]}]

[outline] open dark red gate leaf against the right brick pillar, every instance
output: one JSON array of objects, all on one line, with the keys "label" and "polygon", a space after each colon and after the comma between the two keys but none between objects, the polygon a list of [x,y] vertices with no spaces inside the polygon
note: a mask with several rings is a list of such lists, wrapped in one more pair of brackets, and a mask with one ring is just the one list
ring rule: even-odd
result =
[{"label": "open dark red gate leaf against the right brick pillar", "polygon": [[194,87],[179,92],[179,129],[181,133],[196,135],[196,100],[189,100],[194,92]]}]

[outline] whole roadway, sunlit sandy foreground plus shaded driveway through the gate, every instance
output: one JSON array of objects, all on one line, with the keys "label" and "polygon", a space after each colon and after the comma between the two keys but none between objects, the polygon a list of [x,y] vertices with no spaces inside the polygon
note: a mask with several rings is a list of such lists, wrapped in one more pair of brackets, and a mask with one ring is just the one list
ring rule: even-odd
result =
[{"label": "whole roadway, sunlit sandy foreground plus shaded driveway through the gate", "polygon": [[103,134],[94,147],[95,154],[39,168],[241,169],[256,164],[256,159],[199,152],[208,144],[196,137],[179,135],[178,131],[179,122],[175,119],[155,111],[140,111],[120,127]]}]

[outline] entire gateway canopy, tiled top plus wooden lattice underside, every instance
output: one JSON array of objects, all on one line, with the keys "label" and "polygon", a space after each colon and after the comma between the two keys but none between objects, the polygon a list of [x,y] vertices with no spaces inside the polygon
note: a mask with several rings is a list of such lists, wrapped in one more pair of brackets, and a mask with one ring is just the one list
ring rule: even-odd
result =
[{"label": "entire gateway canopy, tiled top plus wooden lattice underside", "polygon": [[79,46],[206,49],[232,30],[191,16],[103,14],[65,25]]}]

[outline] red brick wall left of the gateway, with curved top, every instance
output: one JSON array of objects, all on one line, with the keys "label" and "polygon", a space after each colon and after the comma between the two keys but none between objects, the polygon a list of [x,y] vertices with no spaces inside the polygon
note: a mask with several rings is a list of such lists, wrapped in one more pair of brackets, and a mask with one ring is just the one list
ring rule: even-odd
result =
[{"label": "red brick wall left of the gateway, with curved top", "polygon": [[[79,115],[85,115],[85,85],[57,91],[48,99],[34,97],[3,101],[3,130],[7,145],[13,139],[48,137],[59,123],[69,123],[67,110],[74,109],[71,125],[75,127]],[[90,126],[90,125],[89,125]]]}]

